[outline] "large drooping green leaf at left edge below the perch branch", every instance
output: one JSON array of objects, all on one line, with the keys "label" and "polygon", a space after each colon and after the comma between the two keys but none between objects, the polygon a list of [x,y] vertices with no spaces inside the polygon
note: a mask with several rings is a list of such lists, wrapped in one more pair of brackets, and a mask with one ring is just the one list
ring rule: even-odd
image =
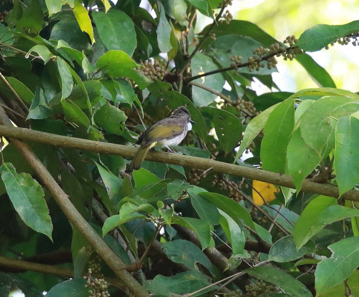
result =
[{"label": "large drooping green leaf at left edge below the perch branch", "polygon": [[18,174],[11,163],[1,165],[0,172],[6,192],[24,223],[52,241],[51,217],[39,183],[28,173]]}]

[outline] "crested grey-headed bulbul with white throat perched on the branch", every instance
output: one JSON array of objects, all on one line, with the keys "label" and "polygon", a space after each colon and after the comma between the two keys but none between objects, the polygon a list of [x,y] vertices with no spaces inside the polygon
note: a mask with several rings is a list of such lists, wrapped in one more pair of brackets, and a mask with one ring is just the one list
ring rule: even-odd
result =
[{"label": "crested grey-headed bulbul with white throat perched on the branch", "polygon": [[127,173],[141,168],[141,164],[150,148],[171,147],[179,144],[185,138],[187,132],[192,130],[191,115],[185,106],[177,107],[172,114],[163,120],[150,126],[137,140],[140,145],[135,157],[127,166]]}]

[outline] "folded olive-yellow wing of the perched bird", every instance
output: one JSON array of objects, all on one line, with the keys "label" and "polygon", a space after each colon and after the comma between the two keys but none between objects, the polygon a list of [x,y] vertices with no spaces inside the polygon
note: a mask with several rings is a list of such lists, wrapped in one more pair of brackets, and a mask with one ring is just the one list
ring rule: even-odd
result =
[{"label": "folded olive-yellow wing of the perched bird", "polygon": [[184,130],[184,126],[159,124],[151,127],[148,131],[145,131],[145,133],[141,136],[140,144],[141,146],[146,146],[163,139],[172,139],[181,135]]}]

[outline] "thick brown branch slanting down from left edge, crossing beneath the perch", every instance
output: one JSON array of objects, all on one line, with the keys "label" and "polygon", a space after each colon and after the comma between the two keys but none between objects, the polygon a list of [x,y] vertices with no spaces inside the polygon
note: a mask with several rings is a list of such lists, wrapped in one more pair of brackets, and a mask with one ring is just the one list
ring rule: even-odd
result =
[{"label": "thick brown branch slanting down from left edge, crossing beneath the perch", "polygon": [[[11,126],[9,118],[6,116],[5,111],[0,107],[0,123],[2,125]],[[1,126],[5,128],[5,126]],[[12,128],[13,129],[13,128]],[[27,129],[25,129],[27,130]],[[30,130],[28,130],[29,132]],[[50,134],[51,135],[51,134]],[[9,135],[8,135],[9,136]],[[46,186],[51,196],[60,206],[67,219],[80,231],[88,242],[94,247],[100,257],[106,264],[113,270],[116,276],[125,283],[130,292],[135,296],[149,297],[145,289],[125,270],[125,264],[117,257],[117,255],[108,247],[102,238],[95,232],[95,230],[88,224],[88,222],[76,210],[75,206],[69,200],[69,197],[57,184],[55,179],[47,171],[46,167],[36,157],[31,148],[20,140],[12,139],[15,148],[23,155],[28,164],[34,169],[42,184]]]}]

